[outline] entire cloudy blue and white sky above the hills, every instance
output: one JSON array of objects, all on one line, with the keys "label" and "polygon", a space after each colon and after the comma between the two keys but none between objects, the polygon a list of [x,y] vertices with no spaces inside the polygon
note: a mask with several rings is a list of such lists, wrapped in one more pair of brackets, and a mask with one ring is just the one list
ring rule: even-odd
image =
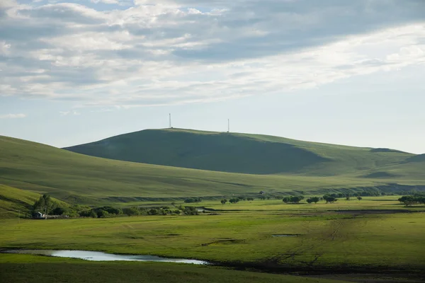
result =
[{"label": "entire cloudy blue and white sky above the hills", "polygon": [[57,147],[171,113],[423,154],[424,74],[423,0],[0,0],[0,135]]}]

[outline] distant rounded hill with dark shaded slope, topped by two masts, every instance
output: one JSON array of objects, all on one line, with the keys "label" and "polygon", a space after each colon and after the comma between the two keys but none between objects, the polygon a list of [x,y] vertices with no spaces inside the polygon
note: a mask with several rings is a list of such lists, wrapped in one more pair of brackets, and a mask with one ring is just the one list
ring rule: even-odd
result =
[{"label": "distant rounded hill with dark shaded slope, topped by two masts", "polygon": [[414,156],[391,149],[187,129],[149,129],[66,149],[122,161],[249,174],[344,175]]}]

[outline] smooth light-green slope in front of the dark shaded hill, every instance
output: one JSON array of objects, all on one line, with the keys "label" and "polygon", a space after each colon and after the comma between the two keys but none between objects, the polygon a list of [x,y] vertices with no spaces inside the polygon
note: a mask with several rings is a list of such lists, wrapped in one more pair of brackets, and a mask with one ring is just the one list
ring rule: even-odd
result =
[{"label": "smooth light-green slope in front of the dark shaded hill", "polygon": [[38,193],[48,192],[69,204],[117,204],[191,196],[217,198],[256,195],[260,190],[268,194],[304,190],[319,195],[329,190],[356,187],[399,190],[399,185],[387,184],[425,184],[423,171],[418,167],[422,163],[412,164],[407,164],[412,166],[412,176],[397,180],[358,178],[356,175],[249,175],[115,161],[0,137],[1,184]]}]

